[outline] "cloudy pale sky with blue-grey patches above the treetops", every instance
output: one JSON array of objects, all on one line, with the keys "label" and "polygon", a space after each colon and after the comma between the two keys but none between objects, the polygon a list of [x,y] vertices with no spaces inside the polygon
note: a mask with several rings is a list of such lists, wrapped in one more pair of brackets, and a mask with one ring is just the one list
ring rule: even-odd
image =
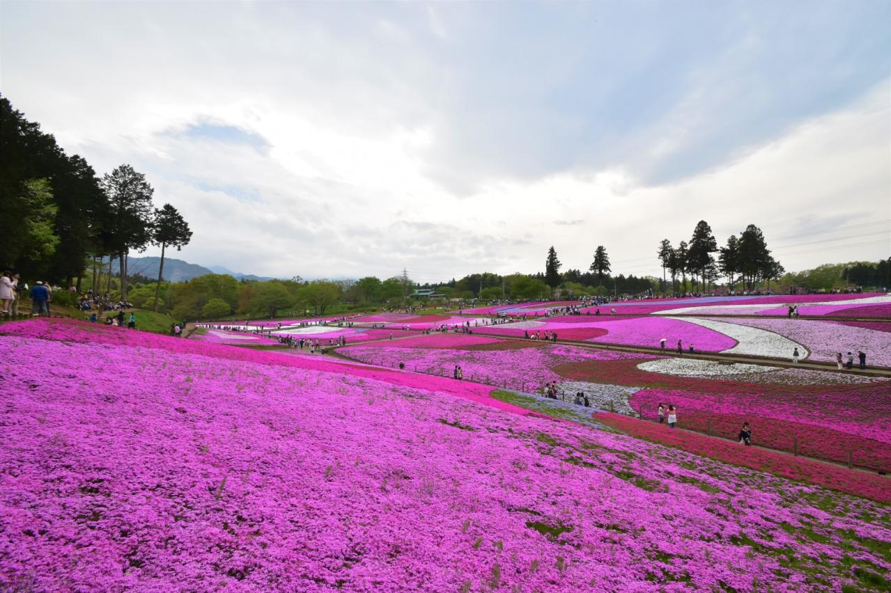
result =
[{"label": "cloudy pale sky with blue-grey patches above the treetops", "polygon": [[[891,3],[0,4],[0,92],[177,256],[279,277],[564,270],[760,226],[891,255]],[[147,252],[155,255],[153,251]]]}]

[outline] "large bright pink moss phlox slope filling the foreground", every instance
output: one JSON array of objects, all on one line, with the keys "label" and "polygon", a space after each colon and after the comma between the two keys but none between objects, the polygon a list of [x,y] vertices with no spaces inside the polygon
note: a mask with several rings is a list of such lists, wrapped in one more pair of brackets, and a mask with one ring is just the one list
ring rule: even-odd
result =
[{"label": "large bright pink moss phlox slope filling the foreground", "polygon": [[858,582],[845,556],[891,569],[869,501],[376,380],[405,373],[2,330],[4,589],[835,589]]}]

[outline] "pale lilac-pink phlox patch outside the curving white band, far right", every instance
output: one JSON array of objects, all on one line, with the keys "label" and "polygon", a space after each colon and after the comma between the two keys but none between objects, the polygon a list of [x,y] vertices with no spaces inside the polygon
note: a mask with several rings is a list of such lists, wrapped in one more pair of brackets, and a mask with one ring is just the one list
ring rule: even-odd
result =
[{"label": "pale lilac-pink phlox patch outside the curving white band, far right", "polygon": [[[867,364],[891,366],[891,347],[886,332],[854,328],[832,321],[797,319],[756,319],[707,317],[714,321],[726,321],[750,328],[766,329],[805,345],[815,361],[835,361],[836,353],[856,355],[858,350],[867,353]],[[856,357],[854,358],[856,362]]]}]

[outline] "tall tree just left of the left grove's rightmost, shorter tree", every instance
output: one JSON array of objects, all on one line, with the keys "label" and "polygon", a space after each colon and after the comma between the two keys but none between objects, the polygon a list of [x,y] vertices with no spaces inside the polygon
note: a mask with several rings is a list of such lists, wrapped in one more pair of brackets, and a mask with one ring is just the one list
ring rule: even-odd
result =
[{"label": "tall tree just left of the left grove's rightmost, shorter tree", "polygon": [[117,253],[120,269],[120,298],[127,300],[127,254],[142,251],[151,241],[151,196],[155,192],[129,165],[121,165],[102,177],[102,189],[110,202],[107,223],[111,253]]}]

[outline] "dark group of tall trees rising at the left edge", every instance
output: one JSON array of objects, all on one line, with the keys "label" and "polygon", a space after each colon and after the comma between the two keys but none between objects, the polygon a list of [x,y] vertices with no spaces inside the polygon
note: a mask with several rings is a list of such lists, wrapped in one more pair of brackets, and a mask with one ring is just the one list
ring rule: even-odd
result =
[{"label": "dark group of tall trees rising at the left edge", "polygon": [[[98,177],[86,159],[69,156],[53,134],[0,97],[0,265],[23,278],[92,286],[103,258],[119,260],[120,298],[127,300],[127,255],[149,245],[177,250],[192,238],[188,223],[165,204],[152,206],[154,190],[130,165]],[[101,272],[100,272],[101,273]],[[155,305],[157,306],[157,305]]]}]

